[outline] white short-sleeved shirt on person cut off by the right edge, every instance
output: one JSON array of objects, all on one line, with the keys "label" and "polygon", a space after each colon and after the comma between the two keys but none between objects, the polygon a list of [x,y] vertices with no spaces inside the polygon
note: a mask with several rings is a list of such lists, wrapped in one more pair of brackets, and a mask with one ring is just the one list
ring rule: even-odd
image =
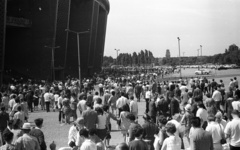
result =
[{"label": "white short-sleeved shirt on person cut off by the right edge", "polygon": [[240,147],[240,119],[233,119],[228,122],[224,133],[229,135],[230,145]]}]

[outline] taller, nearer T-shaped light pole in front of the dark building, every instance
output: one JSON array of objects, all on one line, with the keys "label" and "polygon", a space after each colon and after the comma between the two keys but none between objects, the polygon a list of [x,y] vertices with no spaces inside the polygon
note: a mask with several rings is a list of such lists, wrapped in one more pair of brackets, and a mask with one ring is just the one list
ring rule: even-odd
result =
[{"label": "taller, nearer T-shaped light pole in front of the dark building", "polygon": [[77,32],[70,29],[65,29],[67,32],[72,32],[77,35],[77,47],[78,47],[78,77],[79,77],[79,89],[81,90],[81,58],[80,58],[80,43],[79,43],[79,34],[88,33],[88,31]]}]

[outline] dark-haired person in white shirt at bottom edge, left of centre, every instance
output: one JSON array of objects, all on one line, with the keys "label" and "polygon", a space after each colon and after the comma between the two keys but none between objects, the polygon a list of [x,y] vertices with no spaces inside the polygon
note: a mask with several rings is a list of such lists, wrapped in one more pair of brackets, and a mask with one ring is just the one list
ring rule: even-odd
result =
[{"label": "dark-haired person in white shirt at bottom edge, left of centre", "polygon": [[96,144],[89,139],[88,134],[89,133],[87,129],[80,130],[80,136],[84,139],[84,142],[80,147],[80,150],[97,150]]}]

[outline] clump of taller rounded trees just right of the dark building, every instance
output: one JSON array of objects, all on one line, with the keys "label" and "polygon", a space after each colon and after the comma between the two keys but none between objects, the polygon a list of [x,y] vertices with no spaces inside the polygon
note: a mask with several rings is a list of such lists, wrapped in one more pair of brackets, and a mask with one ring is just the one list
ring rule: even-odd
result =
[{"label": "clump of taller rounded trees just right of the dark building", "polygon": [[138,66],[138,65],[150,65],[154,62],[155,58],[149,50],[141,50],[139,53],[133,52],[129,53],[120,53],[117,59],[114,62],[114,59],[110,56],[103,57],[103,66],[123,65],[123,66]]}]

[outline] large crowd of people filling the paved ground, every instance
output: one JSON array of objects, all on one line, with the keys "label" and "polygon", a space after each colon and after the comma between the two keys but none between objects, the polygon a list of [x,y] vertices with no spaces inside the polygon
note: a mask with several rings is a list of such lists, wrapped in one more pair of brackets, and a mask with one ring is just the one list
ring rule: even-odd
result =
[{"label": "large crowd of people filling the paved ground", "polygon": [[[138,109],[142,101],[145,112]],[[35,119],[34,127],[28,123],[29,113],[39,109],[56,111],[60,124],[72,125],[68,146],[61,150],[110,149],[112,121],[123,135],[116,150],[240,149],[236,77],[229,85],[207,78],[160,82],[140,75],[96,77],[81,84],[76,79],[28,82],[2,88],[0,102],[0,150],[47,149],[43,119]],[[56,149],[54,142],[50,149]]]}]

